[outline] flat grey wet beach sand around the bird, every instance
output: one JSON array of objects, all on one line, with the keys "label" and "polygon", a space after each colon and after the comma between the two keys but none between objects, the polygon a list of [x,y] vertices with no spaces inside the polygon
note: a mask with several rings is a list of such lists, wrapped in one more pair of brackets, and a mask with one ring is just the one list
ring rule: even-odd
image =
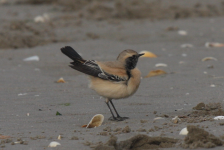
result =
[{"label": "flat grey wet beach sand around the bird", "polygon": [[[179,8],[185,6],[184,2],[178,3]],[[87,11],[92,4],[80,4],[86,7],[75,11],[51,1],[38,5],[26,1],[1,4],[0,131],[12,140],[1,142],[1,148],[51,149],[47,147],[49,143],[58,141],[61,146],[57,149],[93,149],[105,144],[111,135],[121,143],[143,134],[177,139],[173,147],[166,149],[182,149],[187,147],[183,144],[187,140],[179,132],[188,125],[198,126],[222,141],[223,121],[213,118],[223,115],[224,48],[205,47],[206,42],[224,42],[221,2],[212,3],[217,7],[214,12],[219,12],[213,15],[141,19],[116,17],[116,13],[99,19]],[[209,1],[198,0],[192,6],[196,3],[207,6]],[[103,6],[111,5],[111,2],[103,3]],[[116,12],[116,9],[111,11]],[[49,20],[33,21],[44,13]],[[187,35],[178,34],[179,30],[186,31]],[[182,48],[182,44],[193,47]],[[142,78],[132,97],[114,101],[120,115],[130,119],[111,122],[107,120],[110,112],[104,99],[88,88],[87,77],[68,67],[70,59],[60,52],[66,45],[72,46],[85,59],[102,61],[116,59],[124,49],[148,50],[158,57],[139,60],[142,77],[156,69],[167,74]],[[40,60],[23,61],[34,55]],[[214,57],[217,61],[201,61],[205,57]],[[155,67],[157,63],[168,66]],[[60,77],[65,83],[56,83]],[[201,102],[207,106],[196,107]],[[62,115],[56,116],[57,111]],[[103,125],[81,128],[95,114],[104,115]],[[175,116],[180,120],[174,122]],[[154,121],[156,117],[163,119]],[[130,132],[122,132],[126,126]],[[57,139],[58,135],[62,136],[61,140]],[[25,142],[11,144],[18,139]]]}]

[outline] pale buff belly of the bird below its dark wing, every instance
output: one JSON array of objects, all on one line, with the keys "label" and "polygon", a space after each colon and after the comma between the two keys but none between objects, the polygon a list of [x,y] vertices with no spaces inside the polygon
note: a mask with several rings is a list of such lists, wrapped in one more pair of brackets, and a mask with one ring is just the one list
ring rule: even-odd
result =
[{"label": "pale buff belly of the bird below its dark wing", "polygon": [[91,89],[96,91],[99,95],[109,99],[129,97],[136,92],[138,86],[139,84],[135,86],[127,86],[125,83],[116,83],[95,77],[90,77],[89,84]]}]

